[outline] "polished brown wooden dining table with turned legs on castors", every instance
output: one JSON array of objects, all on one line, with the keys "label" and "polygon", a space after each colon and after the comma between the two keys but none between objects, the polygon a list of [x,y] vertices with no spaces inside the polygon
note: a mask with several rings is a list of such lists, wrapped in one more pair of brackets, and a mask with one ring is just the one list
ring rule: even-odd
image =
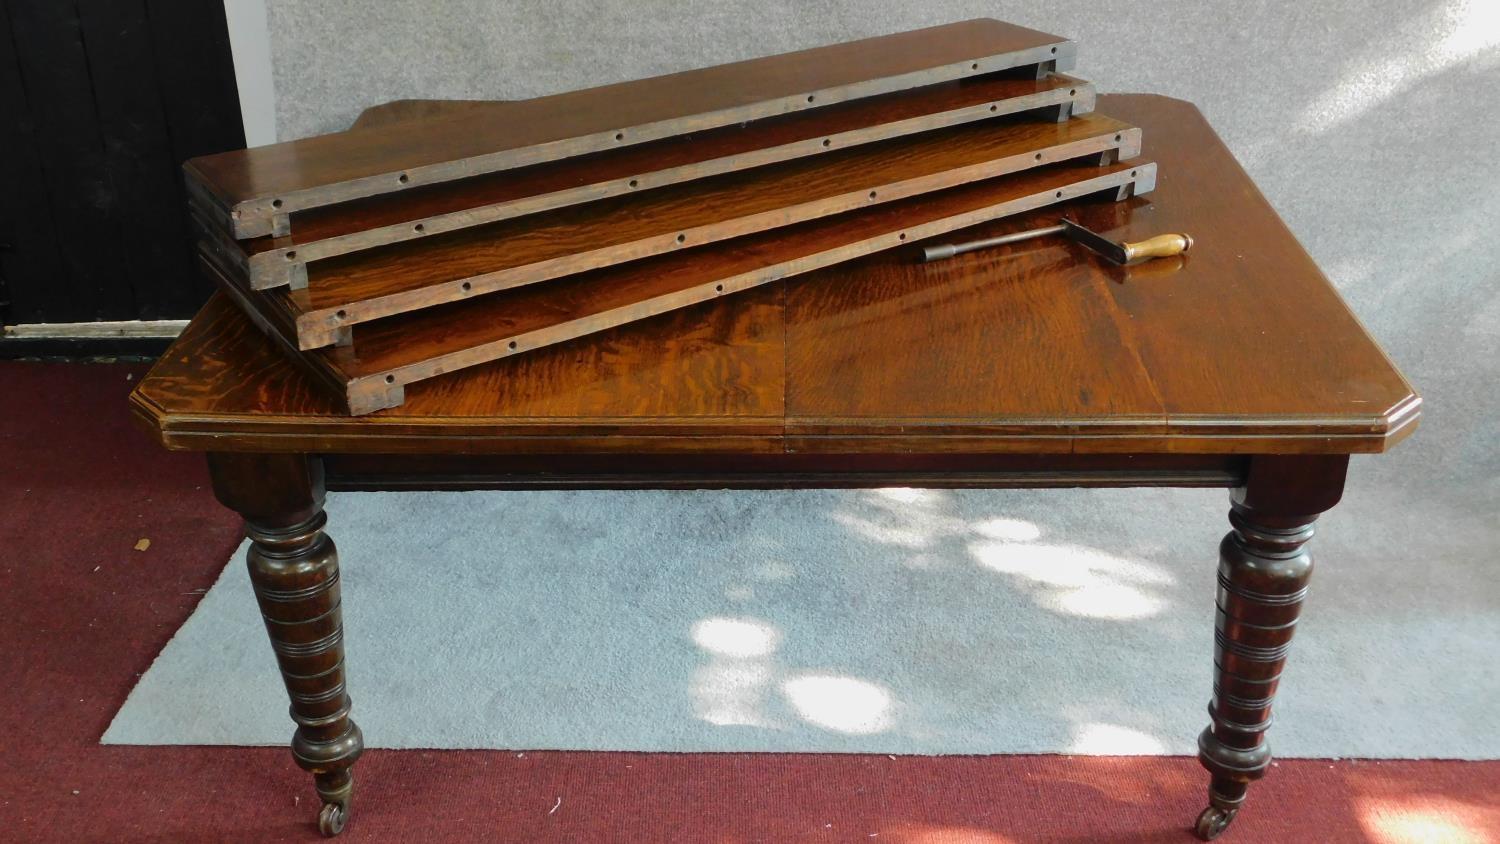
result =
[{"label": "polished brown wooden dining table with turned legs on castors", "polygon": [[[1114,267],[1065,241],[938,264],[894,249],[416,384],[358,418],[218,297],[132,406],[170,448],[212,453],[216,492],[252,523],[262,607],[296,607],[268,625],[279,658],[332,654],[314,625],[327,604],[298,603],[309,586],[334,600],[322,462],[308,454],[342,489],[1230,487],[1200,744],[1197,832],[1214,837],[1269,765],[1311,525],[1338,502],[1348,454],[1408,435],[1420,399],[1192,106],[1101,105],[1146,130],[1164,178],[1071,214],[1116,240],[1186,231],[1190,253]],[[304,688],[316,672],[284,670],[294,708],[297,694],[330,708],[302,712],[327,733],[297,756],[334,831],[357,754],[338,741],[352,724],[322,720],[346,718],[346,699],[332,703],[342,675]]]}]

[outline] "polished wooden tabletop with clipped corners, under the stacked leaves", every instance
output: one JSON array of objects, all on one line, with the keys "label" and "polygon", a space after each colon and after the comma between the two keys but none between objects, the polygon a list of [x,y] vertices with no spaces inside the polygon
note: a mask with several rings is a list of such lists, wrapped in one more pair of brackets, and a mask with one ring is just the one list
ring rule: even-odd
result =
[{"label": "polished wooden tabletop with clipped corners, under the stacked leaves", "polygon": [[1198,111],[1100,105],[1143,129],[1161,178],[1144,198],[1078,205],[1078,222],[1114,238],[1186,231],[1188,255],[888,250],[412,384],[366,417],[216,297],[132,403],[168,447],[219,451],[1062,459],[1347,454],[1410,433],[1420,399]]}]

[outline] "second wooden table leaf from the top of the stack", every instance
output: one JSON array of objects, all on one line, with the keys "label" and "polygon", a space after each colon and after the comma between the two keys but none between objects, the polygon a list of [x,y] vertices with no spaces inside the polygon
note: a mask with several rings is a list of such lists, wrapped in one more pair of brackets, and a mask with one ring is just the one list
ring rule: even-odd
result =
[{"label": "second wooden table leaf from the top of the stack", "polygon": [[[422,100],[405,102],[411,103],[410,112]],[[504,109],[513,103],[440,100],[429,109],[480,105]],[[312,208],[292,214],[292,234],[286,237],[242,241],[212,219],[207,228],[224,238],[224,249],[249,277],[250,288],[303,286],[309,261],[916,132],[1041,111],[1053,120],[1088,114],[1094,111],[1094,87],[1060,73],[1041,79],[999,73]],[[390,120],[400,118],[411,117],[392,112]]]}]

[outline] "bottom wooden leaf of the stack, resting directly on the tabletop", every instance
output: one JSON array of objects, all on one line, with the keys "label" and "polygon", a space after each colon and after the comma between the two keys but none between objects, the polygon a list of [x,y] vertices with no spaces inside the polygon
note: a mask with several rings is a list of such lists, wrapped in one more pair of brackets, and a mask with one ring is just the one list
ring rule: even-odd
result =
[{"label": "bottom wooden leaf of the stack, resting directly on the tabletop", "polygon": [[[1059,165],[942,193],[592,273],[528,285],[468,303],[357,325],[339,348],[302,352],[288,297],[244,291],[220,264],[206,270],[315,378],[334,384],[351,414],[400,405],[405,385],[525,354],[680,307],[808,273],[908,240],[1006,214],[1100,195],[1116,201],[1155,180],[1150,163]],[[330,337],[332,339],[332,337]]]}]

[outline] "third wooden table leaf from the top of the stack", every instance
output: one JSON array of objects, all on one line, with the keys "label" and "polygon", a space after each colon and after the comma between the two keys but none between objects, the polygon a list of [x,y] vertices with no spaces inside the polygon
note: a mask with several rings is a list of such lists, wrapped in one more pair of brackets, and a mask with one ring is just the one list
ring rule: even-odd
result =
[{"label": "third wooden table leaf from the top of the stack", "polygon": [[1138,130],[1096,114],[970,123],[324,261],[286,295],[302,348],[320,348],[370,319],[1138,148]]}]

